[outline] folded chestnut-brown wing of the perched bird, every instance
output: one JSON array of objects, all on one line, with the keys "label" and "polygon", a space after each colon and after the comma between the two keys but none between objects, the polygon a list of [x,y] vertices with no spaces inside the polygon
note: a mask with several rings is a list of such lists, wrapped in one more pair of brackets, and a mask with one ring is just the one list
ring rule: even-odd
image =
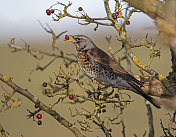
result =
[{"label": "folded chestnut-brown wing of the perched bird", "polygon": [[131,74],[129,74],[121,65],[115,62],[108,54],[99,48],[90,49],[88,55],[94,61],[100,63],[102,66],[112,69],[119,77],[130,83],[136,83],[137,85],[142,86],[142,82],[138,81]]}]

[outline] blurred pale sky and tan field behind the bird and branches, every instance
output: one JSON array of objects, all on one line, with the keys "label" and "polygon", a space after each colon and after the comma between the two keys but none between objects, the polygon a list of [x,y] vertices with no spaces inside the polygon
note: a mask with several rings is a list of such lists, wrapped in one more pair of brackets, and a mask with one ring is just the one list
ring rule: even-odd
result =
[{"label": "blurred pale sky and tan field behind the bird and branches", "polygon": [[[46,33],[40,26],[38,20],[45,26],[46,23],[54,30],[55,34],[59,34],[65,30],[68,32],[66,34],[83,34],[89,36],[100,48],[108,51],[108,43],[105,40],[106,36],[112,36],[112,48],[114,51],[121,48],[120,43],[116,40],[117,32],[113,27],[99,26],[97,31],[94,31],[96,27],[95,24],[90,24],[88,26],[81,26],[78,24],[78,20],[72,18],[63,18],[58,22],[53,21],[52,16],[46,15],[46,9],[51,5],[55,4],[55,0],[0,0],[0,73],[12,76],[15,83],[23,88],[29,89],[32,94],[39,97],[41,101],[46,104],[52,104],[57,100],[55,98],[47,98],[42,95],[41,86],[43,82],[49,81],[49,77],[54,78],[54,72],[58,72],[58,68],[63,65],[62,60],[56,60],[51,66],[49,66],[43,72],[37,71],[31,75],[31,82],[28,82],[29,73],[32,69],[35,69],[37,64],[44,66],[52,58],[44,57],[43,60],[39,61],[31,57],[26,52],[11,53],[8,48],[7,43],[10,42],[11,37],[15,37],[15,44],[19,46],[24,46],[24,43],[20,40],[25,40],[32,48],[38,48],[44,51],[53,52],[51,48],[52,37],[49,33]],[[59,0],[68,4],[67,0]],[[68,11],[73,15],[79,15],[75,12],[78,7],[82,7],[84,11],[90,17],[105,17],[106,13],[104,10],[104,3],[102,0],[72,0],[72,6]],[[111,8],[114,6],[114,2],[110,1]],[[63,9],[62,6],[56,5],[55,8]],[[161,57],[156,58],[152,64],[152,67],[166,76],[170,71],[171,58],[169,48],[162,44],[162,39],[158,36],[159,32],[154,24],[154,21],[150,19],[143,13],[134,13],[130,18],[131,24],[127,26],[128,36],[132,40],[140,42],[142,38],[148,33],[149,38],[157,40],[158,48],[161,48]],[[74,46],[70,43],[64,42],[64,35],[57,40],[56,46],[67,53],[75,53]],[[134,50],[135,54],[143,61],[147,63],[149,60],[148,50],[145,48],[138,48]],[[123,56],[124,51],[119,52],[116,57]],[[127,68],[126,62],[122,62],[122,66]],[[137,67],[132,65],[132,72],[135,74],[140,74]],[[0,82],[0,86],[3,86],[9,92],[11,91],[5,84]],[[124,91],[128,92],[128,91]],[[129,92],[128,92],[129,93]],[[2,100],[2,95],[4,91],[0,87],[0,99]],[[124,111],[124,122],[126,125],[127,136],[132,136],[136,133],[138,136],[142,136],[143,133],[148,131],[148,119],[147,111],[144,104],[144,99],[133,93],[129,93],[135,100],[131,103],[128,108]],[[69,130],[61,126],[56,120],[47,114],[43,113],[43,125],[38,126],[37,123],[32,121],[32,119],[27,119],[28,114],[26,109],[35,110],[34,104],[32,104],[26,98],[16,95],[16,97],[21,98],[22,105],[17,109],[11,109],[6,112],[0,113],[0,123],[3,125],[5,130],[10,133],[10,136],[20,137],[21,134],[24,137],[72,137],[74,136]],[[76,118],[70,116],[69,108],[75,110],[75,108],[87,108],[93,111],[93,104],[87,102],[85,104],[78,105],[68,105],[68,104],[58,104],[54,108],[59,114],[65,117],[70,122],[74,123]],[[154,111],[154,127],[156,136],[162,135],[162,129],[160,126],[160,119],[163,123],[168,122],[169,117],[166,116],[168,110],[161,109],[158,110],[153,108]],[[117,111],[114,111],[111,107],[107,109],[104,115],[113,116]],[[121,126],[111,127],[113,136],[122,136]],[[94,132],[88,133],[87,136],[96,137],[104,136],[101,130],[96,127],[93,129]]]}]

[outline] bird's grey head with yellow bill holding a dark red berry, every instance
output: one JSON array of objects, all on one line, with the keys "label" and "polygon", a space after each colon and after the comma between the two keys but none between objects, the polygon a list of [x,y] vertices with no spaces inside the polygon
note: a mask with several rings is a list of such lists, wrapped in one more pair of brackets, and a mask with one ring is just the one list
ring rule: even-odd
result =
[{"label": "bird's grey head with yellow bill holding a dark red berry", "polygon": [[[70,40],[70,38],[73,40]],[[72,42],[77,51],[85,51],[96,47],[92,40],[84,35],[67,35],[66,41]]]}]

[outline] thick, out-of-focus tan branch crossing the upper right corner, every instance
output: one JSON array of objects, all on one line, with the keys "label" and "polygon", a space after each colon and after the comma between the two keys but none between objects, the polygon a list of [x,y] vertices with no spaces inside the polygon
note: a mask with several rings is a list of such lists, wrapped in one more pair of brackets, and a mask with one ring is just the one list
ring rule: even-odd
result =
[{"label": "thick, out-of-focus tan branch crossing the upper right corner", "polygon": [[156,20],[156,25],[162,32],[164,42],[167,45],[176,47],[176,1],[165,0],[124,0],[130,6],[135,7],[152,19]]}]

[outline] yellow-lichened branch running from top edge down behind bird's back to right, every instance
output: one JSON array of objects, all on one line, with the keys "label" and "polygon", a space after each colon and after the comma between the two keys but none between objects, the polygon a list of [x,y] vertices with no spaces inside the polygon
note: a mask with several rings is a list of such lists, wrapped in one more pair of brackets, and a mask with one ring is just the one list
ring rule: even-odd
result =
[{"label": "yellow-lichened branch running from top edge down behind bird's back to right", "polygon": [[[122,7],[121,7],[121,3],[119,3],[119,1],[115,1],[116,2],[116,6],[114,11],[118,11],[119,15],[117,16],[117,18],[122,18],[123,22],[120,24],[118,22],[118,20],[114,19],[112,17],[112,12],[110,10],[109,7],[109,0],[104,0],[104,6],[105,6],[105,11],[107,13],[107,17],[105,18],[91,18],[89,17],[85,11],[79,11],[81,13],[82,16],[74,16],[71,15],[70,13],[67,12],[68,7],[70,7],[72,4],[69,3],[68,5],[63,4],[58,2],[59,5],[62,5],[64,7],[63,12],[59,12],[58,15],[56,14],[56,16],[58,17],[58,19],[55,19],[55,21],[58,21],[59,19],[63,18],[63,17],[71,17],[71,18],[76,18],[76,19],[82,19],[85,20],[87,23],[85,24],[81,24],[81,25],[88,25],[89,23],[95,23],[98,25],[107,25],[107,24],[100,24],[97,23],[95,20],[107,20],[110,21],[111,23],[108,26],[113,26],[119,33],[120,36],[120,41],[122,41],[122,45],[123,47],[125,47],[125,50],[128,54],[128,56],[132,59],[132,61],[134,62],[134,64],[140,68],[140,70],[147,72],[150,76],[154,76],[156,79],[158,79],[166,88],[166,90],[168,90],[168,92],[170,92],[170,95],[175,95],[175,88],[173,87],[172,84],[170,84],[170,82],[168,81],[168,79],[163,76],[162,74],[159,74],[158,72],[156,72],[154,69],[152,69],[150,67],[150,64],[153,60],[154,57],[159,56],[159,50],[155,50],[152,48],[152,46],[155,46],[155,43],[149,43],[147,41],[147,39],[145,39],[145,41],[143,41],[144,43],[142,43],[142,46],[146,46],[149,44],[150,48],[151,48],[151,53],[150,53],[150,62],[149,65],[146,65],[144,63],[142,63],[137,56],[133,53],[133,51],[131,50],[132,47],[136,47],[134,44],[131,43],[130,38],[127,37],[126,31],[124,29],[125,23],[126,21],[131,17],[131,15],[133,14],[133,12],[139,12],[137,9],[132,8],[131,10],[129,10],[128,15],[124,16],[122,14]],[[57,5],[57,4],[55,4]],[[163,87],[162,87],[163,89]],[[169,94],[169,93],[167,93]]]}]

